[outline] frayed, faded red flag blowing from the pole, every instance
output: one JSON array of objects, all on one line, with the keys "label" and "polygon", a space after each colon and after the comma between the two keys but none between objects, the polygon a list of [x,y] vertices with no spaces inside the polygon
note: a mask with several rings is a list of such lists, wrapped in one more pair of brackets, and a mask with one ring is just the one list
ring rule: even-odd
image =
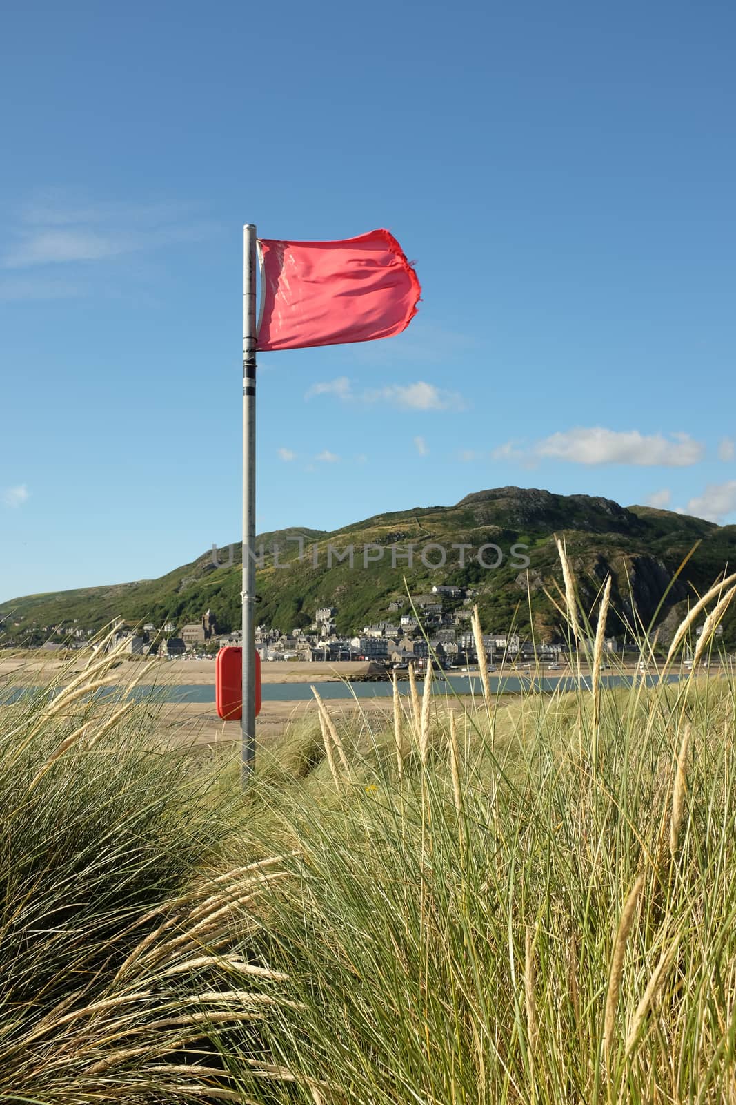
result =
[{"label": "frayed, faded red flag blowing from the pole", "polygon": [[344,242],[260,240],[264,313],[257,348],[372,341],[406,329],[422,294],[387,230]]}]

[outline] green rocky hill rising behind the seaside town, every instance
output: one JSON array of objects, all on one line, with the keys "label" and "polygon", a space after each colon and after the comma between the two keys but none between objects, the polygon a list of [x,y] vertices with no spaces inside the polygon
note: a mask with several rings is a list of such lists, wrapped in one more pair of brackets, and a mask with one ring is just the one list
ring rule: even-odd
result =
[{"label": "green rocky hill rising behind the seaside town", "polygon": [[[600,583],[612,575],[608,631],[614,634],[621,634],[623,623],[634,617],[644,623],[655,618],[665,639],[687,597],[704,591],[736,561],[736,526],[627,508],[588,495],[497,487],[455,506],[377,514],[333,533],[292,528],[260,535],[258,620],[287,632],[308,625],[318,607],[331,606],[338,609],[338,630],[355,632],[388,619],[388,603],[406,596],[406,585],[418,593],[434,583],[451,583],[477,589],[489,631],[506,630],[515,619],[526,633],[529,585],[534,632],[538,640],[551,640],[561,633],[559,617],[544,594],[545,587],[561,580],[555,534],[566,540],[585,604],[593,607]],[[241,546],[233,545],[218,550],[220,567],[207,551],[160,579],[4,602],[0,644],[41,643],[53,632],[63,635],[75,620],[85,630],[97,630],[116,615],[129,623],[171,621],[181,628],[199,621],[207,608],[218,628],[235,629],[241,623]],[[734,611],[724,622],[724,644],[736,646]]]}]

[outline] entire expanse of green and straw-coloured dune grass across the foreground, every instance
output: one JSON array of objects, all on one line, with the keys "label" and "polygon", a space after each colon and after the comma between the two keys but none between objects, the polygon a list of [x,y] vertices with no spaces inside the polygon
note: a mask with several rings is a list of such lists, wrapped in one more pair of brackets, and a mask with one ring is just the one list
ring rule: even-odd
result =
[{"label": "entire expanse of green and straw-coloured dune grass across the foreground", "polygon": [[0,1101],[736,1102],[736,683],[601,688],[566,583],[577,692],[317,702],[243,796],[94,664],[3,711]]}]

